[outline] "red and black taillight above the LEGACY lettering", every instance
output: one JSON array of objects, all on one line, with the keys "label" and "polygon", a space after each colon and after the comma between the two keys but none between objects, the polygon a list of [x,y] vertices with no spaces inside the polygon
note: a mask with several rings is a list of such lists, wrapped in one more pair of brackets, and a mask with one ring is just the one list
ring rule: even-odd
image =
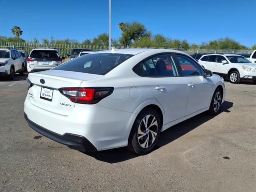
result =
[{"label": "red and black taillight above the LEGACY lettering", "polygon": [[60,93],[69,98],[72,102],[82,104],[95,104],[111,95],[113,90],[113,87],[59,89]]}]

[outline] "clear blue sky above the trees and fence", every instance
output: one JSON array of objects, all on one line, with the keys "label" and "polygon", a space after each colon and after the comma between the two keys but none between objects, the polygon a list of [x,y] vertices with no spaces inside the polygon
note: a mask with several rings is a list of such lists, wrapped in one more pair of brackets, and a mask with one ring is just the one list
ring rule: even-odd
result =
[{"label": "clear blue sky above the trees and fence", "polygon": [[[256,44],[256,1],[112,0],[112,38],[120,22],[138,21],[152,34],[200,44],[230,37]],[[108,33],[108,0],[0,0],[0,35],[20,26],[25,40],[76,39]]]}]

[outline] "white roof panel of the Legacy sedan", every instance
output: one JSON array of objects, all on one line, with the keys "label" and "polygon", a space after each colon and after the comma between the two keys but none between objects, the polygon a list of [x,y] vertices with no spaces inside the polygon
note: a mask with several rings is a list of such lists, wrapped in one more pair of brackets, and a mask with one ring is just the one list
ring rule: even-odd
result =
[{"label": "white roof panel of the Legacy sedan", "polygon": [[[131,54],[131,55],[136,55],[142,52],[150,52],[151,54],[158,54],[158,53],[164,53],[164,52],[174,52],[174,53],[181,53],[184,54],[184,52],[177,51],[177,50],[172,50],[172,49],[112,49],[112,50],[104,50],[104,51],[98,51],[93,54],[97,53],[119,53],[119,54]],[[185,53],[186,54],[186,53]],[[186,54],[188,55],[188,54]]]}]

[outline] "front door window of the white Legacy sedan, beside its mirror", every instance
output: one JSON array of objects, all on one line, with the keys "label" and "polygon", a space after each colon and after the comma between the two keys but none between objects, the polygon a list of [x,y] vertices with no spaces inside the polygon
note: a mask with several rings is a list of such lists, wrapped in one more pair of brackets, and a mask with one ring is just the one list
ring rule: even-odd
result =
[{"label": "front door window of the white Legacy sedan, beside its mirror", "polygon": [[192,59],[176,54],[183,76],[202,76],[203,70]]}]

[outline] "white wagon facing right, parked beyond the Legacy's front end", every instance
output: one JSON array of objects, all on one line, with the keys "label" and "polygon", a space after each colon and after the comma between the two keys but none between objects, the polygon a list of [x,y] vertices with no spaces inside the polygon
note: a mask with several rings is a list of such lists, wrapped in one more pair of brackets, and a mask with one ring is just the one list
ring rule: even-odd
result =
[{"label": "white wagon facing right, parked beyond the Legacy's front end", "polygon": [[253,80],[256,83],[256,65],[248,59],[236,54],[208,54],[202,56],[198,62],[202,67],[228,78],[231,83],[240,80]]}]

